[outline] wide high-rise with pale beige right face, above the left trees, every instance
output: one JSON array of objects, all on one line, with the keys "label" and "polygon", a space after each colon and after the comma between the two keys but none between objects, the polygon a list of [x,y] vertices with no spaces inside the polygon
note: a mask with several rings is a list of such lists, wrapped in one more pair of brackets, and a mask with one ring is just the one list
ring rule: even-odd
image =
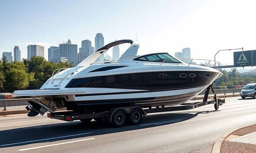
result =
[{"label": "wide high-rise with pale beige right face, above the left trees", "polygon": [[30,60],[32,56],[44,57],[44,46],[28,45],[28,60]]}]

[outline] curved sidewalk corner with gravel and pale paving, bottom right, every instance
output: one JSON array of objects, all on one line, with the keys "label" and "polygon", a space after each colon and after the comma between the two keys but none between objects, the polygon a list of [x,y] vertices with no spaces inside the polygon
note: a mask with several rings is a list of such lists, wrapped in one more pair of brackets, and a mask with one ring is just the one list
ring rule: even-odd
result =
[{"label": "curved sidewalk corner with gravel and pale paving, bottom right", "polygon": [[[215,142],[219,143],[218,141]],[[216,145],[214,144],[214,147]],[[220,145],[221,144],[221,145]],[[219,143],[220,153],[255,153],[256,152],[256,124],[240,128],[229,134]],[[212,153],[213,152],[212,149]]]}]

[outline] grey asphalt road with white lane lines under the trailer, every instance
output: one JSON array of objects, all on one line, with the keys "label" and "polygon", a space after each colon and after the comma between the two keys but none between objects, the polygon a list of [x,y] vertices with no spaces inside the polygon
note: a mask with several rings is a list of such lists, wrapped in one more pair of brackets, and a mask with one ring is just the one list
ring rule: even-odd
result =
[{"label": "grey asphalt road with white lane lines under the trailer", "polygon": [[148,114],[140,125],[112,128],[92,121],[65,122],[26,114],[0,117],[1,153],[210,153],[221,136],[255,124],[256,99],[226,98],[187,111]]}]

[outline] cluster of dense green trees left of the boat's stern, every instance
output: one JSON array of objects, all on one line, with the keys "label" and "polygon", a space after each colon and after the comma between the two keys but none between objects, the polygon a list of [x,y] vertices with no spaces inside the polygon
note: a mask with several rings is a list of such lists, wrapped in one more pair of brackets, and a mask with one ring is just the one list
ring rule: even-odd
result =
[{"label": "cluster of dense green trees left of the boat's stern", "polygon": [[72,64],[47,62],[44,57],[32,56],[30,60],[8,63],[4,56],[0,60],[0,92],[12,92],[22,89],[38,89],[50,77],[55,69],[70,68]]}]

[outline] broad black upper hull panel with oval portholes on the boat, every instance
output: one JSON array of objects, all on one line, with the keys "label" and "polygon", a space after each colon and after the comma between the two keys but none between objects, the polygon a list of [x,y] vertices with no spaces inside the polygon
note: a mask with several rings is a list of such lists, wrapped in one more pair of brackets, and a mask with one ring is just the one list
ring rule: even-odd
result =
[{"label": "broad black upper hull panel with oval portholes on the boat", "polygon": [[144,91],[186,89],[210,84],[218,74],[212,71],[154,71],[115,74],[73,78],[65,88],[112,88]]}]

